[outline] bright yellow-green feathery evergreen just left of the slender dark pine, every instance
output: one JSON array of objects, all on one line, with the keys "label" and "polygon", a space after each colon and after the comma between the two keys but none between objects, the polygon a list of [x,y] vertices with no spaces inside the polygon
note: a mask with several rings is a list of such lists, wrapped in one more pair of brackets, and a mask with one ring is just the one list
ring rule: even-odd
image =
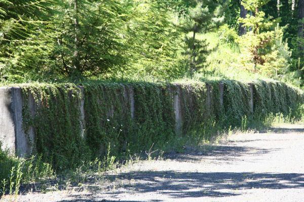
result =
[{"label": "bright yellow-green feathery evergreen just left of the slender dark pine", "polygon": [[[180,56],[183,34],[175,26],[174,1],[125,1],[126,32],[129,39],[128,73],[153,79],[183,74]],[[181,68],[182,67],[182,68]]]}]

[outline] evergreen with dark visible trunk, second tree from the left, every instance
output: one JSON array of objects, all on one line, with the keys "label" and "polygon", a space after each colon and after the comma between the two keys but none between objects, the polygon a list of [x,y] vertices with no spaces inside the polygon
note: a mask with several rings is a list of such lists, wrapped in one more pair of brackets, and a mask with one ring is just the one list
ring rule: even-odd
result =
[{"label": "evergreen with dark visible trunk, second tree from the left", "polygon": [[119,1],[66,0],[54,9],[48,32],[53,69],[70,77],[105,74],[125,65],[122,8]]}]

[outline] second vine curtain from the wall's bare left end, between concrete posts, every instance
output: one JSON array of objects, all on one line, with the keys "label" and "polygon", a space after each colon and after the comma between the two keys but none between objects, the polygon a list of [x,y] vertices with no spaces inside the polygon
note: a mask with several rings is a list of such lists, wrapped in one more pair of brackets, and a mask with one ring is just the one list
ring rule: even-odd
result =
[{"label": "second vine curtain from the wall's bare left end, between concrete posts", "polygon": [[108,144],[120,151],[131,125],[130,90],[122,84],[108,83],[85,86],[86,141],[94,157],[105,155]]}]

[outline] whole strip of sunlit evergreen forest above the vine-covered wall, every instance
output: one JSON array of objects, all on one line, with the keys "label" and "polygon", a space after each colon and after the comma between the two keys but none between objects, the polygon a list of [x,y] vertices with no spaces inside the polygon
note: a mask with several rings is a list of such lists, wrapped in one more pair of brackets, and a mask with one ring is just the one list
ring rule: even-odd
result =
[{"label": "whole strip of sunlit evergreen forest above the vine-covered wall", "polygon": [[303,0],[1,0],[0,83],[274,78],[303,86]]}]

